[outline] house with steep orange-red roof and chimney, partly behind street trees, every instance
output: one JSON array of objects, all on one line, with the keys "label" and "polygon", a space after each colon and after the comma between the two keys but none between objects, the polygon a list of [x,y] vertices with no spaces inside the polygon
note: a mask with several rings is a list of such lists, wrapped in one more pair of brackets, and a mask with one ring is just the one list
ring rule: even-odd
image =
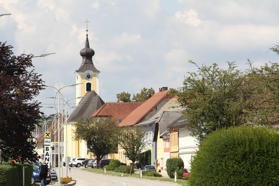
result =
[{"label": "house with steep orange-red roof and chimney, partly behind street trees", "polygon": [[[139,163],[143,165],[153,165],[157,161],[157,138],[154,140],[155,122],[163,111],[174,111],[176,110],[174,107],[178,106],[177,97],[167,95],[168,92],[167,87],[160,88],[159,92],[137,107],[119,124],[120,127],[143,126],[147,131],[150,146],[141,152]],[[123,153],[123,149],[118,148],[118,156],[123,157]]]}]

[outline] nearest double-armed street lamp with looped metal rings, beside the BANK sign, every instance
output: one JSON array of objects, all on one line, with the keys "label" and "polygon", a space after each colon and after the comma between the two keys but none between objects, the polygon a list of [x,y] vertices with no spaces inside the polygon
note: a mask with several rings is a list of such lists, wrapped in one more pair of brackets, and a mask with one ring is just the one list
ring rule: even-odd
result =
[{"label": "nearest double-armed street lamp with looped metal rings, beside the BANK sign", "polygon": [[[63,86],[62,88],[59,87],[58,85],[58,88],[54,87],[54,86],[50,86],[50,85],[45,85],[45,86],[49,86],[49,87],[52,87],[54,89],[57,90],[55,96],[54,96],[54,100],[53,100],[53,103],[54,103],[54,108],[55,110],[57,111],[58,113],[58,184],[60,184],[60,112],[63,110],[63,106],[64,106],[64,99],[63,99],[63,95],[61,94],[61,89],[67,87],[67,86],[77,86],[79,84],[82,84],[82,83],[76,83],[76,84],[72,84],[72,85],[66,85],[66,86]],[[56,108],[55,106],[55,98],[56,98],[56,95],[58,94],[58,108]],[[62,104],[62,108],[60,109],[60,95],[62,96],[62,100],[63,100],[63,104]]]}]

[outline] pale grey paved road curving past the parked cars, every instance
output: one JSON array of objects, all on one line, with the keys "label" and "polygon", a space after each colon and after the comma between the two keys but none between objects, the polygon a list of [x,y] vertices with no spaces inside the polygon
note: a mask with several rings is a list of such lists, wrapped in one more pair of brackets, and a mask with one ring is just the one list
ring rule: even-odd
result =
[{"label": "pale grey paved road curving past the parked cars", "polygon": [[[117,177],[110,175],[96,174],[81,170],[82,167],[71,168],[71,177],[77,180],[76,186],[174,186],[173,183],[158,182],[146,179]],[[56,170],[57,171],[57,170]],[[65,169],[64,169],[65,171]],[[63,173],[65,176],[65,173]],[[52,184],[49,184],[52,185]]]}]

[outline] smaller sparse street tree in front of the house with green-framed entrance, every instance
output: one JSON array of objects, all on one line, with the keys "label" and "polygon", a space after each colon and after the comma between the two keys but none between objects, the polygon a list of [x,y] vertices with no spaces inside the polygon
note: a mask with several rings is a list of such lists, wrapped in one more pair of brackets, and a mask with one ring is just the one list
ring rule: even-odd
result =
[{"label": "smaller sparse street tree in front of the house with green-framed entrance", "polygon": [[140,151],[148,145],[147,132],[140,126],[126,126],[118,132],[118,144],[125,150],[124,155],[131,161],[130,175]]}]

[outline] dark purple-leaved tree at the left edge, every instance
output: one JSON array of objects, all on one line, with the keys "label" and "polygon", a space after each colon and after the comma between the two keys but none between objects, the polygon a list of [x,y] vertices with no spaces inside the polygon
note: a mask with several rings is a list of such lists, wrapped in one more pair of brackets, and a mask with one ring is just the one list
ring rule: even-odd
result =
[{"label": "dark purple-leaved tree at the left edge", "polygon": [[22,162],[38,160],[32,131],[40,102],[34,97],[43,88],[41,74],[34,72],[33,55],[13,55],[13,47],[0,42],[0,149],[3,157]]}]

